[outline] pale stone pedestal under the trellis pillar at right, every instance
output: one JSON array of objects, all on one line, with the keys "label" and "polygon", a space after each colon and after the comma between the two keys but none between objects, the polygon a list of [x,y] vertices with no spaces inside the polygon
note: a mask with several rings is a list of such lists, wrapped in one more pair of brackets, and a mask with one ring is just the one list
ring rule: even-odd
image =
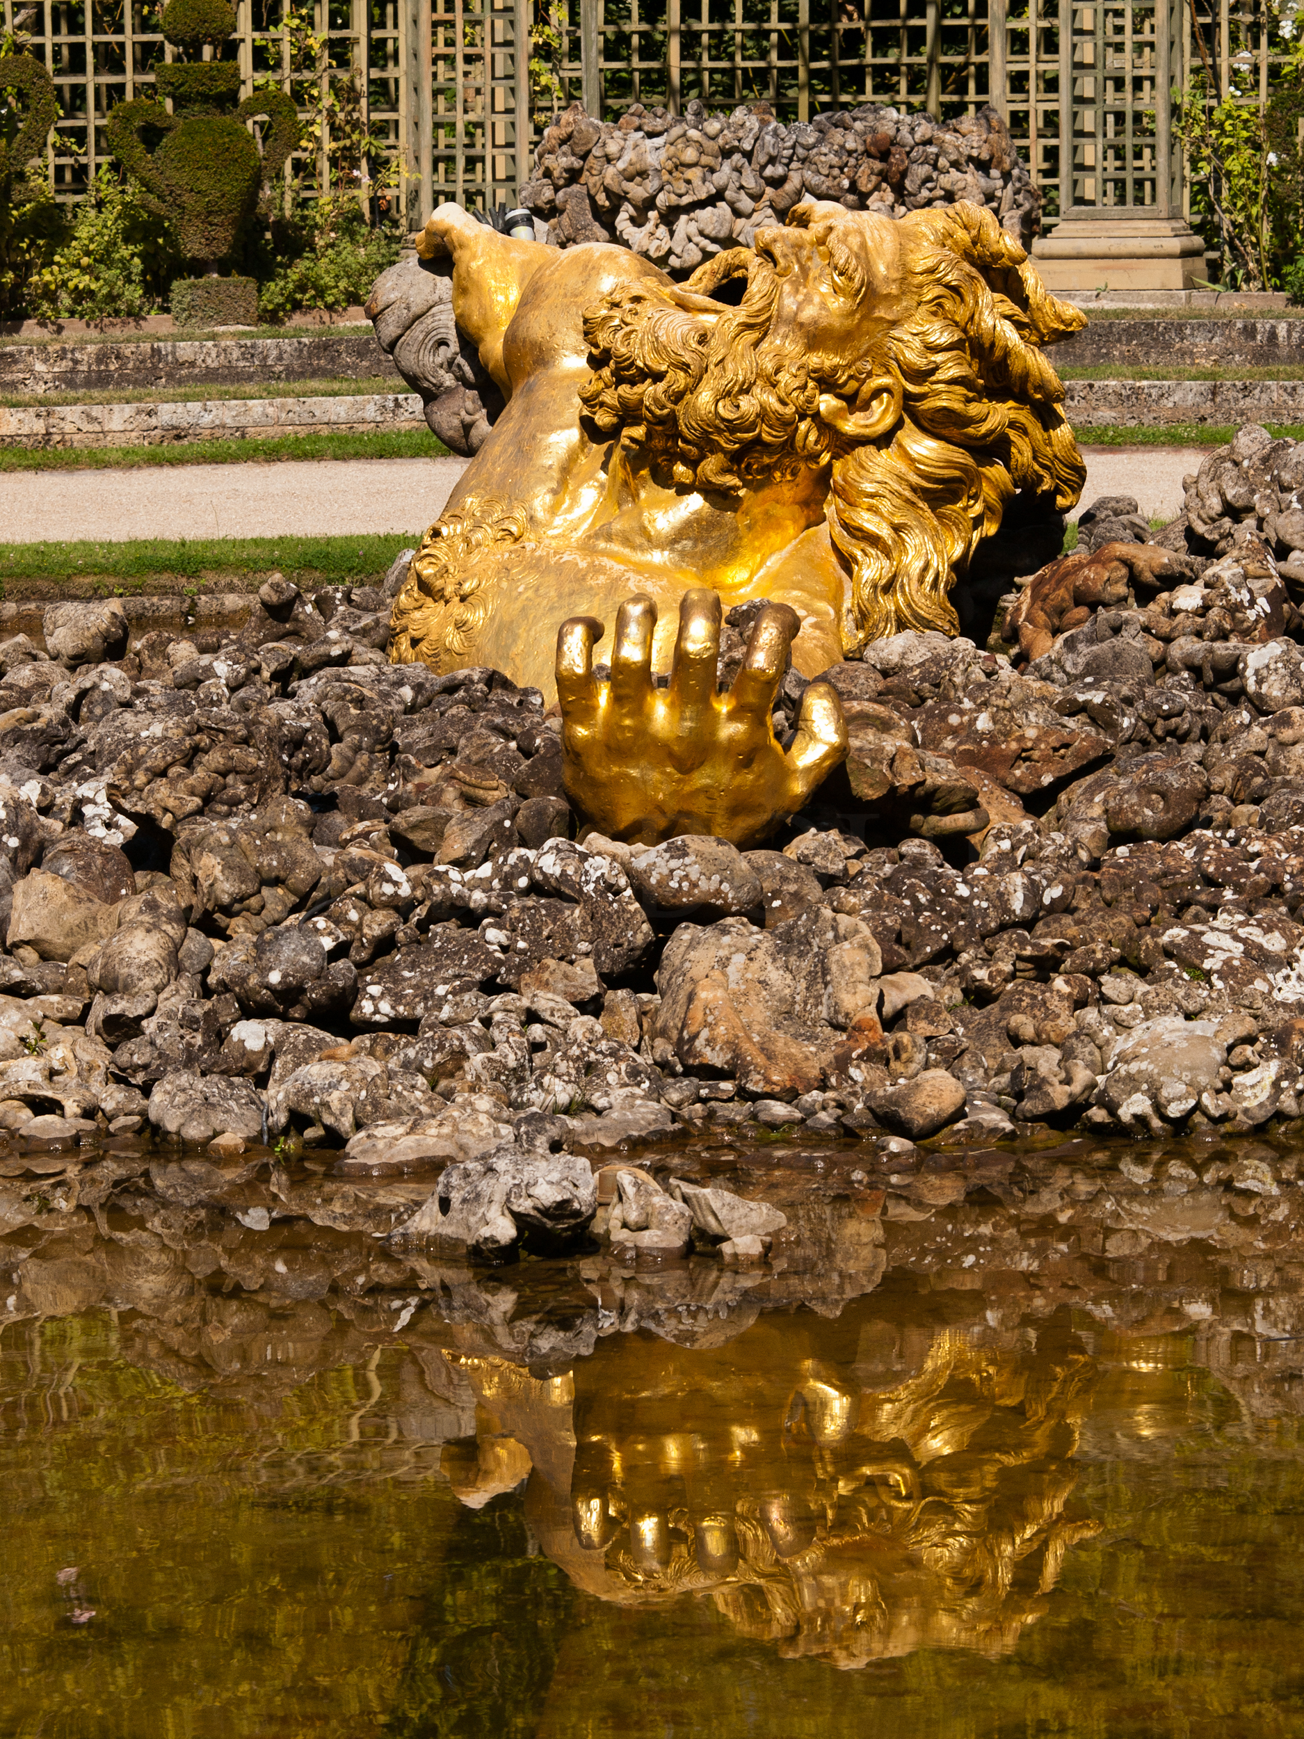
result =
[{"label": "pale stone pedestal under the trellis pillar at right", "polygon": [[1205,243],[1184,217],[1071,210],[1033,242],[1048,290],[1189,290],[1205,277]]}]

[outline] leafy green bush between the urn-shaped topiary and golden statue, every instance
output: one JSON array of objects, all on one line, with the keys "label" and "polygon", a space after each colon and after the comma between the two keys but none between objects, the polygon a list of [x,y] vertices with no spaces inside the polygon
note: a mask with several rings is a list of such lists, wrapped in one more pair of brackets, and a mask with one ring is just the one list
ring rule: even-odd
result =
[{"label": "leafy green bush between the urn-shaped topiary and golden statue", "polygon": [[400,250],[400,228],[372,230],[349,195],[318,200],[297,221],[273,226],[268,252],[280,263],[263,285],[259,315],[276,322],[299,308],[337,311],[365,303]]}]

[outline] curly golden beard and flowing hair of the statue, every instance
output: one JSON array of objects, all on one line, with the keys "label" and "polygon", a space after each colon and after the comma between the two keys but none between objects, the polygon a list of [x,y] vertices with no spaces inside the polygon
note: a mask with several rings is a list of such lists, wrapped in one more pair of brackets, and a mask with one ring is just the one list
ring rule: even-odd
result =
[{"label": "curly golden beard and flowing hair of the statue", "polygon": [[[826,513],[850,570],[848,654],[909,628],[956,633],[948,593],[1014,492],[1062,510],[1087,476],[1038,348],[1085,316],[1045,292],[979,207],[915,212],[901,228],[915,311],[852,367],[770,337],[779,278],[744,249],[699,268],[685,290],[624,287],[584,316],[589,421],[643,442],[678,485],[737,494],[833,459]],[[742,301],[722,311],[708,296],[735,277]],[[899,384],[902,412],[857,445],[821,419],[819,395],[854,398],[869,376]]]}]

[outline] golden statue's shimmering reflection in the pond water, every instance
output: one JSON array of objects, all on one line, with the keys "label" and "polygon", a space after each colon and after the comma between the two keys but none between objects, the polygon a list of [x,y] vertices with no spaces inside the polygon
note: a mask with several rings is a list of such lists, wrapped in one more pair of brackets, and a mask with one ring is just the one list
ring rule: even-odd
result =
[{"label": "golden statue's shimmering reflection in the pond water", "polygon": [[[574,1407],[558,1379],[504,1388],[478,1360],[478,1436],[529,1449],[532,1527],[603,1600],[709,1593],[744,1635],[836,1666],[1005,1652],[1097,1530],[1062,1515],[1087,1355],[1054,1329],[1031,1355],[942,1330],[916,1376],[875,1391],[819,1356],[847,1327],[770,1318],[720,1351],[619,1337],[575,1367]],[[483,1490],[504,1489],[485,1485],[487,1442],[476,1459]],[[483,1501],[475,1478],[457,1489]]]}]

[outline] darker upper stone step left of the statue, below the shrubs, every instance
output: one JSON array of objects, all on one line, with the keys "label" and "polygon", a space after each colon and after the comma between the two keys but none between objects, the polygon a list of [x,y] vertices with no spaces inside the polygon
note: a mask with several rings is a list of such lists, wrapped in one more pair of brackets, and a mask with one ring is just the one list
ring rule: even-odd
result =
[{"label": "darker upper stone step left of the statue, below the shrubs", "polygon": [[398,370],[370,332],[174,339],[160,344],[0,344],[0,393],[106,393],[372,377],[398,381]]}]

